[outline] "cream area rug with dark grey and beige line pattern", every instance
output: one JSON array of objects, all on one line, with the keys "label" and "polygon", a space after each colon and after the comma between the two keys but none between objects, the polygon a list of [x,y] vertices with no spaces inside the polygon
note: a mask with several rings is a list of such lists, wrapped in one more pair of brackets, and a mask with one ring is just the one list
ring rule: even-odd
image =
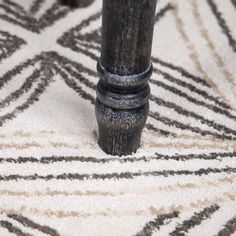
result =
[{"label": "cream area rug with dark grey and beige line pattern", "polygon": [[101,0],[0,0],[0,235],[236,235],[236,1],[159,0],[139,151],[94,115]]}]

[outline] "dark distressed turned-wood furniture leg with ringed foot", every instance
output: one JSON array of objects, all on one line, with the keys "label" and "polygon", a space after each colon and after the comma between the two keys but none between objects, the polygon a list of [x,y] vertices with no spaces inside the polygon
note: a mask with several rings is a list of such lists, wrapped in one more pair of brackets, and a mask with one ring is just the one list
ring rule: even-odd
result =
[{"label": "dark distressed turned-wood furniture leg with ringed foot", "polygon": [[96,117],[99,145],[108,154],[128,155],[140,146],[149,112],[155,8],[156,0],[103,0]]}]

